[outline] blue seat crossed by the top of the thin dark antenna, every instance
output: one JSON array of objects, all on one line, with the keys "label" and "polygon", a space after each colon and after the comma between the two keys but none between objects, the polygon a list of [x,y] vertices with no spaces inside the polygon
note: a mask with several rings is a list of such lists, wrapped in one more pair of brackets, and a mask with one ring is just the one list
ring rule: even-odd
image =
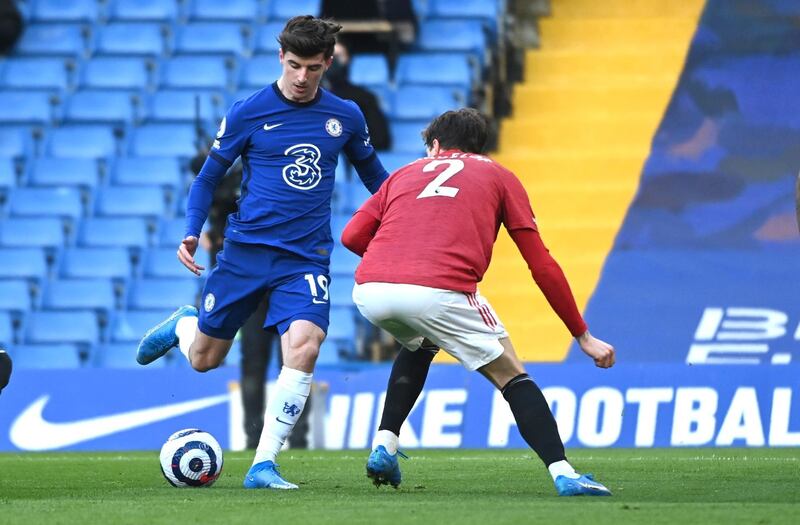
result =
[{"label": "blue seat crossed by the top of the thin dark antenna", "polygon": [[225,114],[224,99],[208,91],[162,89],[153,93],[147,105],[148,121],[194,122],[196,104],[199,99],[200,120],[214,122],[222,120]]}]

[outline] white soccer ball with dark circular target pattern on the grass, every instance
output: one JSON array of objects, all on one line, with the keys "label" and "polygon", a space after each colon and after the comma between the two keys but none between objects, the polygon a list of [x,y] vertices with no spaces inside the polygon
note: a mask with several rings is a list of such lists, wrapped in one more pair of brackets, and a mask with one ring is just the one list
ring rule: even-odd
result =
[{"label": "white soccer ball with dark circular target pattern on the grass", "polygon": [[173,487],[210,487],[222,472],[222,448],[197,428],[172,434],[161,447],[161,473]]}]

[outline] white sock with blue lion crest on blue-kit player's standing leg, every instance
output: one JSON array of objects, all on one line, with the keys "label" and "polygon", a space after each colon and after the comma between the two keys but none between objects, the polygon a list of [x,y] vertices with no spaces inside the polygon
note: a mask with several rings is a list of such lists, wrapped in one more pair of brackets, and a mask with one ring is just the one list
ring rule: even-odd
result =
[{"label": "white sock with blue lion crest on blue-kit player's standing leg", "polygon": [[313,374],[284,366],[267,397],[264,428],[258,440],[253,465],[263,461],[275,461],[289,432],[292,431],[311,391]]}]

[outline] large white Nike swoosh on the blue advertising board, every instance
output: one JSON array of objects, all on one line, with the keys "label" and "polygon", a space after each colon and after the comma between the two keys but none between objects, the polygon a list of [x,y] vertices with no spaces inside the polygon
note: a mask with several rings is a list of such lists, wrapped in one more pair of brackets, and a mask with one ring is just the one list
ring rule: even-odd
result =
[{"label": "large white Nike swoosh on the blue advertising board", "polygon": [[17,416],[11,425],[9,438],[21,450],[55,450],[226,403],[228,399],[228,394],[222,394],[108,416],[52,423],[42,415],[50,400],[49,395],[44,395]]}]

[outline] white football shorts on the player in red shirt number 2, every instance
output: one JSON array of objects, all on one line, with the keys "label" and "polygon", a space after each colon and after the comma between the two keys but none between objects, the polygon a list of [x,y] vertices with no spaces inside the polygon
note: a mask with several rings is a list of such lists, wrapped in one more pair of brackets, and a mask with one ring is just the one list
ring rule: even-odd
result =
[{"label": "white football shorts on the player in red shirt number 2", "polygon": [[409,350],[417,350],[427,338],[469,370],[500,357],[500,339],[508,337],[491,305],[477,292],[364,283],[353,287],[353,301],[361,315]]}]

